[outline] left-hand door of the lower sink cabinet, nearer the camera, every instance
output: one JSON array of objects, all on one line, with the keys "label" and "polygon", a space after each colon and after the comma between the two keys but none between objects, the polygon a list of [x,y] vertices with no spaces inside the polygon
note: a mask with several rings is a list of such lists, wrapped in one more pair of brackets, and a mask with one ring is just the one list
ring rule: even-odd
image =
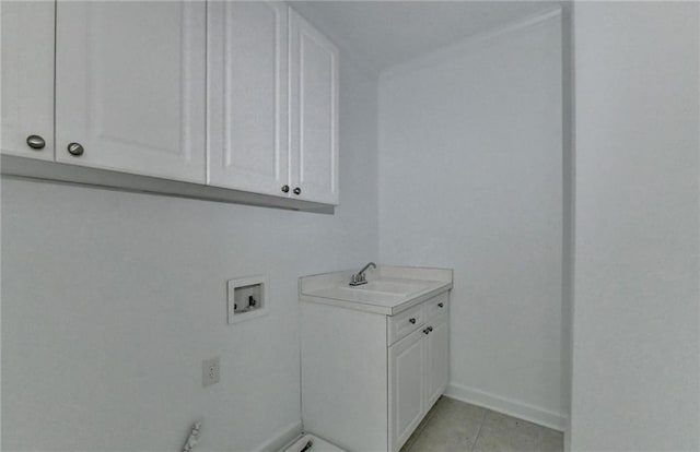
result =
[{"label": "left-hand door of the lower sink cabinet, nearer the camera", "polygon": [[389,448],[398,451],[425,413],[425,333],[423,329],[388,348]]}]

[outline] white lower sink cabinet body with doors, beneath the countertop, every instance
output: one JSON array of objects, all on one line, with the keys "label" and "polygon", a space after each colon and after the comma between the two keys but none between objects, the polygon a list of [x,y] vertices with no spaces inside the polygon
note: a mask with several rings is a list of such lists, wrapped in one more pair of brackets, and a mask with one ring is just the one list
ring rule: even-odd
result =
[{"label": "white lower sink cabinet body with doors, beneath the countertop", "polygon": [[447,385],[448,294],[394,316],[302,297],[304,430],[348,451],[397,452]]}]

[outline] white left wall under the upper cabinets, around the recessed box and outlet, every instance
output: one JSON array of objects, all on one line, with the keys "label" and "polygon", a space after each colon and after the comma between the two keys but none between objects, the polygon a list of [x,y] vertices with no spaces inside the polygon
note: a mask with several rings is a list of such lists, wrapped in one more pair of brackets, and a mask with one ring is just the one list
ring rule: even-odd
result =
[{"label": "white left wall under the upper cabinets, around the recessed box and outlet", "polygon": [[[376,80],[341,59],[336,214],[2,180],[3,450],[250,451],[301,431],[298,277],[376,259]],[[270,313],[226,324],[226,279]],[[221,382],[201,385],[202,359]]]}]

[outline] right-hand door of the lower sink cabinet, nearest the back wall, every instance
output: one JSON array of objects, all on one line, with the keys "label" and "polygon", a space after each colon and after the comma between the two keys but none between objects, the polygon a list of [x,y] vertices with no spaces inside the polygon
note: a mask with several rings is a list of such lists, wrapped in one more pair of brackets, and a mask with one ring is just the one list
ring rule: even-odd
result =
[{"label": "right-hand door of the lower sink cabinet, nearest the back wall", "polygon": [[435,403],[445,391],[450,379],[450,322],[447,316],[429,320],[427,325],[432,328],[427,337],[427,369],[428,401],[425,409]]}]

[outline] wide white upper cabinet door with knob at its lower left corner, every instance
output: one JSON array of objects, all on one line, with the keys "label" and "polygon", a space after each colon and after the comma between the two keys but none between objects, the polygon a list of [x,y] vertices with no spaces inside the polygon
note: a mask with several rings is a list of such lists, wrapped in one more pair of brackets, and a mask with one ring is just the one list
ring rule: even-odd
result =
[{"label": "wide white upper cabinet door with knob at its lower left corner", "polygon": [[201,1],[59,0],[56,159],[203,183],[206,20]]}]

